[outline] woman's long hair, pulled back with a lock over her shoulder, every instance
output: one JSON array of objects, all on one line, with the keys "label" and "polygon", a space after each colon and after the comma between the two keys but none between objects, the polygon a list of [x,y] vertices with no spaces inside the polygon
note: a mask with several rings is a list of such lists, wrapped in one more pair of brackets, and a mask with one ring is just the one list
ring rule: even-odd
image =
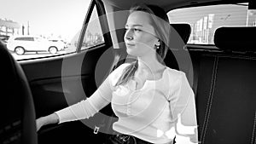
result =
[{"label": "woman's long hair, pulled back with a lock over her shoulder", "polygon": [[[135,11],[143,11],[150,15],[151,25],[154,26],[154,31],[156,37],[160,39],[160,47],[156,49],[156,58],[160,63],[164,64],[164,59],[168,50],[168,45],[170,42],[170,21],[164,9],[161,9],[156,5],[146,5],[143,3],[137,3],[130,9],[130,14]],[[120,76],[118,82],[115,84],[125,84],[130,80],[134,73],[137,71],[138,61],[134,61],[131,65],[125,67],[122,75]]]}]

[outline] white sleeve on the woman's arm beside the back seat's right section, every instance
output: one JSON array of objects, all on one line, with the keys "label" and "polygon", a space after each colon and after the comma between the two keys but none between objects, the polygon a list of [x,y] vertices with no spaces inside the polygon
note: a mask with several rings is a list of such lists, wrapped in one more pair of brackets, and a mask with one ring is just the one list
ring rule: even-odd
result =
[{"label": "white sleeve on the woman's arm beside the back seat's right section", "polygon": [[178,88],[177,101],[172,111],[173,116],[177,118],[177,144],[183,142],[198,143],[195,95],[183,72]]}]

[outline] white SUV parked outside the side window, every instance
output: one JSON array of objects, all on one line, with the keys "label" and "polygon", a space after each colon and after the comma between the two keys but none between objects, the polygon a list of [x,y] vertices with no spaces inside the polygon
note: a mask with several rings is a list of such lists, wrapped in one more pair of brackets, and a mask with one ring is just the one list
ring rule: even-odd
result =
[{"label": "white SUV parked outside the side window", "polygon": [[64,49],[64,45],[48,41],[43,37],[14,36],[9,38],[7,48],[17,55],[23,55],[26,52],[49,52],[50,54],[55,54]]}]

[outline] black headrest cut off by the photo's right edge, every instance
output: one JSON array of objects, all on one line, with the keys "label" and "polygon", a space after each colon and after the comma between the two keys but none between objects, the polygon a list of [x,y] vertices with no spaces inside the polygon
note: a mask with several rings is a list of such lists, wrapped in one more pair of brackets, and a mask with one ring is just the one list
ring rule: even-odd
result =
[{"label": "black headrest cut off by the photo's right edge", "polygon": [[214,43],[219,49],[231,51],[255,51],[256,27],[219,27],[214,34]]}]

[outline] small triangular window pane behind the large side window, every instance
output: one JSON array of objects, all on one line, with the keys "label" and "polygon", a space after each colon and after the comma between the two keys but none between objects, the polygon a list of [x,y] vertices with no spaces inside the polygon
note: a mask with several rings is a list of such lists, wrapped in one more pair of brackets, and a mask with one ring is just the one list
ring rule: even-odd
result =
[{"label": "small triangular window pane behind the large side window", "polygon": [[96,11],[96,6],[94,6],[92,14],[90,15],[89,23],[87,24],[81,49],[89,49],[102,43],[104,43],[102,27]]}]

